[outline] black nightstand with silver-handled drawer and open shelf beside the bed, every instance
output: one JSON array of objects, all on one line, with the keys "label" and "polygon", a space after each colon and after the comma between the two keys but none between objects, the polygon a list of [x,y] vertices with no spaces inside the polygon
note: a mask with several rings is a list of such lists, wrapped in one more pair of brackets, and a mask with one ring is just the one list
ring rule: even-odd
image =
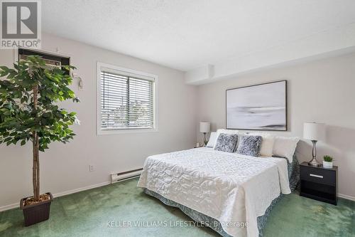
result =
[{"label": "black nightstand with silver-handled drawer and open shelf beside the bed", "polygon": [[300,164],[300,196],[337,205],[338,167],[332,169]]}]

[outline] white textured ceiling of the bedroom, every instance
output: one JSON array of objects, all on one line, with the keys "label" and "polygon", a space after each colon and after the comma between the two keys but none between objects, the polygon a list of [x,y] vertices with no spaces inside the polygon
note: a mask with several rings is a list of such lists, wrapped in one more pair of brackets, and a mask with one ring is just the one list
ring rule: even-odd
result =
[{"label": "white textured ceiling of the bedroom", "polygon": [[295,45],[355,23],[354,0],[45,0],[42,5],[45,32],[183,71]]}]

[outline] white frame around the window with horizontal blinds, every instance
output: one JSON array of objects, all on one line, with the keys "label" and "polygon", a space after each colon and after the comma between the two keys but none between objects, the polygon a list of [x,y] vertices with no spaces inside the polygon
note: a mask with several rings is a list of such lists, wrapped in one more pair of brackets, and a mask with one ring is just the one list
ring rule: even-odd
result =
[{"label": "white frame around the window with horizontal blinds", "polygon": [[[101,72],[102,69],[111,71],[112,73],[124,73],[124,75],[136,76],[138,78],[147,78],[154,80],[153,88],[153,128],[146,129],[117,129],[117,130],[102,130],[101,129]],[[97,135],[114,135],[124,133],[139,133],[139,132],[158,132],[158,75],[145,73],[138,70],[123,68],[118,65],[109,63],[97,62]]]}]

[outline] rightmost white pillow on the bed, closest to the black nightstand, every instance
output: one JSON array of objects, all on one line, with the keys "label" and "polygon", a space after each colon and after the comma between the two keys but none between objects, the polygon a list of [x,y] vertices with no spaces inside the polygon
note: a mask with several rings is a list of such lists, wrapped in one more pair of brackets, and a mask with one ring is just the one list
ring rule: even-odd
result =
[{"label": "rightmost white pillow on the bed, closest to the black nightstand", "polygon": [[299,137],[275,137],[273,154],[278,157],[285,157],[291,163],[298,141],[300,141]]}]

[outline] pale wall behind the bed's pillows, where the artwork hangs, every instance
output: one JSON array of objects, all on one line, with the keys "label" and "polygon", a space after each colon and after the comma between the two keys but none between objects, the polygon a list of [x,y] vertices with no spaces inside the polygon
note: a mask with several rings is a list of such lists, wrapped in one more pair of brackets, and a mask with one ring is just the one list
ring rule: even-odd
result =
[{"label": "pale wall behind the bed's pillows, where the artwork hangs", "polygon": [[[228,88],[288,80],[288,132],[302,137],[303,122],[325,122],[327,141],[317,144],[318,159],[334,156],[339,166],[339,194],[355,199],[355,54],[310,63],[263,70],[238,78],[200,85],[197,90],[197,122],[212,122],[212,130],[225,127],[225,92]],[[200,132],[197,131],[200,137]],[[300,142],[301,162],[312,157],[309,141]]]}]

